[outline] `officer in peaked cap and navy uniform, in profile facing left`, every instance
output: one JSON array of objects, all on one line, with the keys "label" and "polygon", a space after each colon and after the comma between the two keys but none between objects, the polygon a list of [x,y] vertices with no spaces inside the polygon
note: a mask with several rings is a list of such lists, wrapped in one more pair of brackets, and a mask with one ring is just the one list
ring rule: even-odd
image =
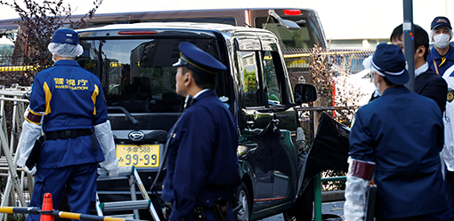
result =
[{"label": "officer in peaked cap and navy uniform, in profile facing left", "polygon": [[[168,137],[163,199],[170,220],[234,220],[231,196],[239,185],[238,135],[230,111],[215,94],[226,67],[197,46],[179,44],[176,93],[193,96]],[[224,210],[224,212],[223,212]]]}]

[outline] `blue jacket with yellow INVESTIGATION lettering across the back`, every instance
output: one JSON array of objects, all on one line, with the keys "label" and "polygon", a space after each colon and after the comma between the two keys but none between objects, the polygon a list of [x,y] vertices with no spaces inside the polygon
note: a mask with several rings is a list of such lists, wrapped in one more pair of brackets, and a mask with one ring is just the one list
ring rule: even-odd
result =
[{"label": "blue jacket with yellow INVESTIGATION lettering across the back", "polygon": [[[76,60],[62,59],[39,72],[30,96],[30,111],[43,115],[45,132],[91,130],[93,125],[107,121],[99,78],[80,67]],[[104,161],[101,147],[93,151],[92,144],[93,135],[46,140],[41,146],[38,169]]]}]

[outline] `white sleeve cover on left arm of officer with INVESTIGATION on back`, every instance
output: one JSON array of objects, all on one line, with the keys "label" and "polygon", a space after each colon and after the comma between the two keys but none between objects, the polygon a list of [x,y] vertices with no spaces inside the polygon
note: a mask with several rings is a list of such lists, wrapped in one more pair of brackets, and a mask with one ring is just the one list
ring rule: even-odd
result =
[{"label": "white sleeve cover on left arm of officer with INVESTIGATION on back", "polygon": [[20,132],[19,138],[19,160],[17,165],[20,167],[25,166],[28,156],[35,146],[36,139],[41,136],[41,125],[28,122],[27,120],[22,123],[22,131]]}]

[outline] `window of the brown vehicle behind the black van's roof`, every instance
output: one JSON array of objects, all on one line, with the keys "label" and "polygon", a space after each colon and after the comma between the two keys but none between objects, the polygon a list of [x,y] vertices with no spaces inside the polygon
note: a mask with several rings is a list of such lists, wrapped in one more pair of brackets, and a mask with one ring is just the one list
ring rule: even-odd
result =
[{"label": "window of the brown vehicle behind the black van's roof", "polygon": [[299,25],[299,30],[289,30],[280,25],[278,20],[268,17],[256,17],[255,27],[264,28],[272,31],[276,35],[280,44],[286,48],[312,48],[313,45],[325,47],[324,39],[320,30],[319,21],[312,17],[304,16],[281,16],[284,20],[293,20]]}]

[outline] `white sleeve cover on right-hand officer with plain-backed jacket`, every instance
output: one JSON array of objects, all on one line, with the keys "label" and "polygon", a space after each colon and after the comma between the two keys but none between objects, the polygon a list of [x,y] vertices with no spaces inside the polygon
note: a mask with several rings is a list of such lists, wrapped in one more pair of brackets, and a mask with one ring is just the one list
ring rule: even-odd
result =
[{"label": "white sleeve cover on right-hand officer with plain-backed jacket", "polygon": [[344,204],[345,220],[362,221],[366,217],[366,191],[368,185],[368,180],[347,174]]}]

